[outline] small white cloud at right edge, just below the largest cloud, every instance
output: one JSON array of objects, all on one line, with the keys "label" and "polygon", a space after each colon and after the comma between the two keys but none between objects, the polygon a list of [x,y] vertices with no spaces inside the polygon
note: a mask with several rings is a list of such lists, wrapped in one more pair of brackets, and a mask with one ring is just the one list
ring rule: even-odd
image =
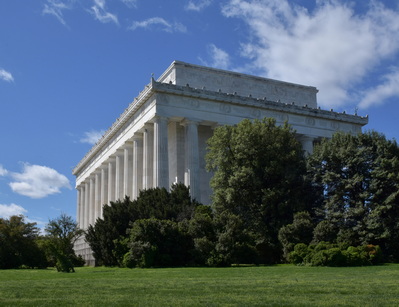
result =
[{"label": "small white cloud at right edge, just below the largest cloud", "polygon": [[359,107],[367,108],[371,105],[380,105],[385,99],[391,97],[399,97],[399,68],[385,75],[382,84],[366,91]]}]

